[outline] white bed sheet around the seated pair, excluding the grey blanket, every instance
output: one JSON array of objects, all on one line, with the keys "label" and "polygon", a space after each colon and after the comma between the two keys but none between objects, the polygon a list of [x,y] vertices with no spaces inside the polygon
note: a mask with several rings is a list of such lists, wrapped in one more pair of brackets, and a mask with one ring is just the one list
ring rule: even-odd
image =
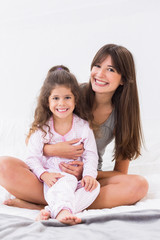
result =
[{"label": "white bed sheet around the seated pair, excluding the grey blanket", "polygon": [[[159,121],[154,121],[154,125],[148,119],[143,124],[146,141],[146,149],[143,149],[142,156],[131,162],[130,174],[140,174],[149,182],[147,196],[138,203],[131,206],[121,206],[112,209],[85,210],[78,215],[87,217],[91,215],[110,214],[117,212],[131,212],[137,210],[160,209],[160,128]],[[0,155],[10,155],[20,159],[25,158],[26,146],[25,135],[28,123],[25,119],[1,119],[0,120]],[[113,143],[111,143],[104,155],[104,169],[112,169],[111,162]],[[24,216],[35,219],[38,210],[28,210],[17,207],[9,207],[3,204],[4,200],[14,198],[3,187],[0,186],[0,214],[6,213],[16,216]]]}]

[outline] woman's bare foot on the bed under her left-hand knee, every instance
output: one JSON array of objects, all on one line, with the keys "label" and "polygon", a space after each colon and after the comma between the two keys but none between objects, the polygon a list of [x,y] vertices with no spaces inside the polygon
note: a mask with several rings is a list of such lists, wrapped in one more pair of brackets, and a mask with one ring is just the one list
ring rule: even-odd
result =
[{"label": "woman's bare foot on the bed under her left-hand knee", "polygon": [[4,201],[3,204],[11,207],[27,208],[27,209],[33,209],[33,210],[41,210],[44,208],[44,205],[26,202],[18,198],[8,199]]}]

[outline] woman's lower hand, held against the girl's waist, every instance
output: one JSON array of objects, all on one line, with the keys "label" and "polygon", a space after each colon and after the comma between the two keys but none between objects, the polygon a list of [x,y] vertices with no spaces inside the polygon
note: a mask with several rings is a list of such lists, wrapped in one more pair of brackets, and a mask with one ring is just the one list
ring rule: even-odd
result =
[{"label": "woman's lower hand, held against the girl's waist", "polygon": [[80,161],[72,161],[70,163],[63,162],[59,164],[59,167],[62,170],[62,172],[70,173],[74,175],[78,180],[82,179],[83,162]]}]

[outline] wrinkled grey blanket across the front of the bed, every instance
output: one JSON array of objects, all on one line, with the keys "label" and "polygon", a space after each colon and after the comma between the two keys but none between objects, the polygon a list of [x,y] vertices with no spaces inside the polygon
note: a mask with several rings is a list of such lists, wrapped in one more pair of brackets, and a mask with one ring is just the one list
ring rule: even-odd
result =
[{"label": "wrinkled grey blanket across the front of the bed", "polygon": [[5,240],[158,240],[160,210],[101,214],[82,218],[68,226],[55,219],[34,221],[25,217],[0,214],[0,239]]}]

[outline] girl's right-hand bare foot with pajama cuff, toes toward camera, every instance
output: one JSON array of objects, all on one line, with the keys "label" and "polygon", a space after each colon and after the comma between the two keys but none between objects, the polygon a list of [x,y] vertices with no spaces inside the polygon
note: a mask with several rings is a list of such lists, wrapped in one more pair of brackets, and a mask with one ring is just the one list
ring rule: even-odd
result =
[{"label": "girl's right-hand bare foot with pajama cuff, toes toward camera", "polygon": [[75,224],[81,223],[82,221],[81,218],[74,216],[68,210],[60,211],[56,219],[61,223],[68,224],[68,225],[75,225]]}]

